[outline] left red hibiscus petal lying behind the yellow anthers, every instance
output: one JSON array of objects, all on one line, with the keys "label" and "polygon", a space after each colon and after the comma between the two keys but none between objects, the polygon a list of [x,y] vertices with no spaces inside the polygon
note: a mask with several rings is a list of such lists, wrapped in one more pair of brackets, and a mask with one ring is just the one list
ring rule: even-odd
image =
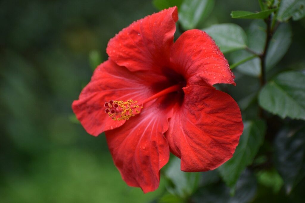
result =
[{"label": "left red hibiscus petal lying behind the yellow anthers", "polygon": [[154,74],[130,72],[108,60],[95,69],[91,81],[81,91],[79,99],[73,102],[73,112],[89,134],[98,136],[125,123],[125,120],[112,120],[104,112],[105,102],[142,101],[155,93],[151,89],[153,84],[163,80],[166,78]]}]

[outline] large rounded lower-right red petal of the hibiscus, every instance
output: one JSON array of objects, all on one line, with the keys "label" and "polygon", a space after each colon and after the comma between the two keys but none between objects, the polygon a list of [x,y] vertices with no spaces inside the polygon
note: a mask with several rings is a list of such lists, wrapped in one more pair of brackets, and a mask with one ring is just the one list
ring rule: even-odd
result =
[{"label": "large rounded lower-right red petal of the hibiscus", "polygon": [[232,157],[242,134],[242,117],[230,95],[206,85],[184,87],[180,111],[169,120],[166,139],[181,158],[181,170],[213,170]]}]

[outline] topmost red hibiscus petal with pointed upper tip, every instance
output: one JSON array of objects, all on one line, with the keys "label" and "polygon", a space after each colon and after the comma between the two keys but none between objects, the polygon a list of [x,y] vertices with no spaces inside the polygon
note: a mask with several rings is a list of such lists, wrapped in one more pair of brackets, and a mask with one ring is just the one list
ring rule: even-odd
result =
[{"label": "topmost red hibiscus petal with pointed upper tip", "polygon": [[107,54],[131,71],[160,71],[169,66],[177,20],[176,6],[138,20],[110,39]]}]

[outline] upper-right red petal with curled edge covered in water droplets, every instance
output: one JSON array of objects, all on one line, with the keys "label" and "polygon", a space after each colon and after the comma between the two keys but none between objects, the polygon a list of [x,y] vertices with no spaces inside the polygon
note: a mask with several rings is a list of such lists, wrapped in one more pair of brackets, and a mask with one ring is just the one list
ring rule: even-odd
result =
[{"label": "upper-right red petal with curled edge covered in water droplets", "polygon": [[209,83],[234,84],[227,59],[213,39],[201,30],[188,30],[174,43],[171,67],[184,75],[188,85]]}]

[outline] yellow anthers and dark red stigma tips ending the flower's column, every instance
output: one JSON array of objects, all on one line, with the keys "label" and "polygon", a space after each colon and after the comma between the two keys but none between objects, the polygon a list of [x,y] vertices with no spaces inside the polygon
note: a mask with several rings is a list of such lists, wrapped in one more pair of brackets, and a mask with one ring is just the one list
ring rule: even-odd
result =
[{"label": "yellow anthers and dark red stigma tips ending the flower's column", "polygon": [[105,113],[113,120],[128,120],[141,112],[142,105],[137,105],[137,101],[127,100],[127,102],[110,100],[104,104]]}]

